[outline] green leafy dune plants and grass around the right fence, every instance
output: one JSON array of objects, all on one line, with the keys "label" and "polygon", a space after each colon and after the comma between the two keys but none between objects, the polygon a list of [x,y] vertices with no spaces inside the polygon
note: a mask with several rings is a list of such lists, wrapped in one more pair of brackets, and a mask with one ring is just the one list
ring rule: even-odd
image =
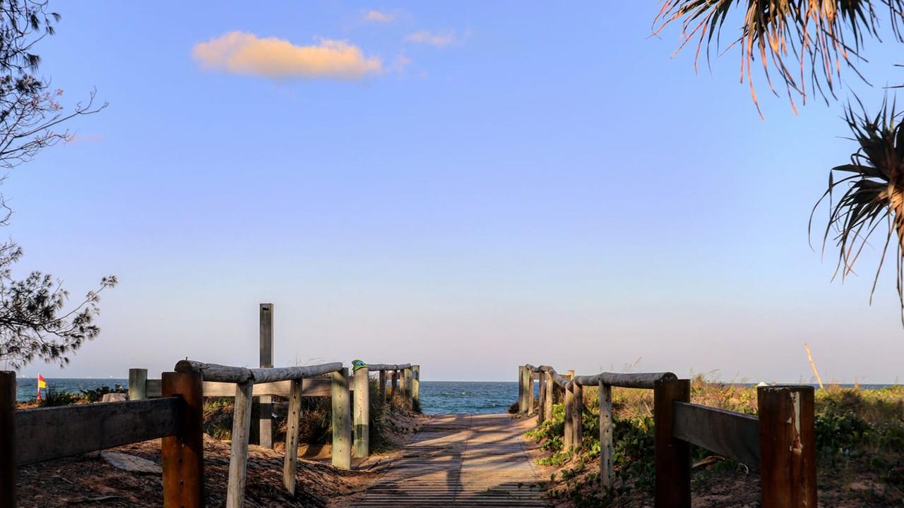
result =
[{"label": "green leafy dune plants and grass around the right fence", "polygon": [[[757,389],[692,382],[691,401],[757,413]],[[570,456],[562,443],[564,408],[527,433],[544,456],[560,506],[641,507],[651,503],[654,484],[653,393],[613,390],[614,489],[599,489],[599,405],[595,388],[584,390],[583,441]],[[830,387],[816,390],[815,432],[821,506],[904,506],[904,386],[881,390]],[[758,506],[758,473],[732,460],[692,447],[694,506]]]}]

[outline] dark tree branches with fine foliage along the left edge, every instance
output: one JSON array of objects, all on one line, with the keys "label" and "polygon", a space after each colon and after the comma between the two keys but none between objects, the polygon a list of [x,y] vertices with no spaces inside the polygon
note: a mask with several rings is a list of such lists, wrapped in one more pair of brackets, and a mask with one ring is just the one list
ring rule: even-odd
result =
[{"label": "dark tree branches with fine foliage along the left edge", "polygon": [[[63,123],[107,107],[95,105],[92,90],[86,102],[67,111],[60,102],[62,90],[36,75],[41,57],[34,46],[52,35],[59,21],[60,14],[49,12],[46,2],[0,0],[0,168],[10,170],[42,148],[71,140]],[[12,210],[2,194],[0,210],[4,226]],[[67,308],[69,292],[60,280],[37,271],[14,278],[13,265],[22,255],[14,241],[0,243],[0,361],[19,368],[40,358],[63,366],[82,343],[99,334],[94,322],[98,295],[117,279],[102,278],[98,289]]]}]

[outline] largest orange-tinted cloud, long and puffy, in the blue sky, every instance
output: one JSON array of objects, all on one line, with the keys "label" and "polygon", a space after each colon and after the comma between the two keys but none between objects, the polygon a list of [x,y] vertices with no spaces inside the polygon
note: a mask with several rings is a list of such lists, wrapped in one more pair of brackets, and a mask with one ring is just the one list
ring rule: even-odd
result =
[{"label": "largest orange-tinted cloud, long and puffy, in the blue sky", "polygon": [[194,45],[192,56],[202,69],[267,78],[333,78],[360,80],[383,71],[382,61],[365,57],[361,48],[344,41],[318,39],[297,46],[276,37],[230,32]]}]

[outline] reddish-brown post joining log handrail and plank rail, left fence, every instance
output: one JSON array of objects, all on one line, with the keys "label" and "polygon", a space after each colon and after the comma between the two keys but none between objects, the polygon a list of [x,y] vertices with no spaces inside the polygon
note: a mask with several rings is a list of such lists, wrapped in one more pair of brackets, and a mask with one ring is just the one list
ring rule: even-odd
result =
[{"label": "reddish-brown post joining log handrail and plank rail, left fence", "polygon": [[161,395],[182,397],[179,434],[163,438],[165,508],[201,508],[204,505],[204,397],[201,372],[164,372]]}]

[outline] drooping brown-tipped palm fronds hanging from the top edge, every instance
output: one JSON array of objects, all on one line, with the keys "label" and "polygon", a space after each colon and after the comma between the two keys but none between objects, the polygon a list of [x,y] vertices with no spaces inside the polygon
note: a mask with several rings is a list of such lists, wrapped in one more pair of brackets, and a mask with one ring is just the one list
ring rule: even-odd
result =
[{"label": "drooping brown-tipped palm fronds hanging from the top edge", "polygon": [[769,89],[778,95],[772,81],[777,75],[796,111],[795,97],[805,103],[807,88],[826,101],[834,98],[843,68],[864,79],[855,63],[864,60],[860,50],[865,38],[880,36],[874,5],[885,7],[891,33],[904,42],[904,0],[663,0],[654,33],[680,23],[682,42],[676,52],[696,41],[696,68],[704,46],[707,61],[712,46],[720,51],[720,33],[734,19],[730,12],[741,5],[746,11],[727,49],[740,48],[740,80],[749,83],[760,116],[753,79],[757,58]]}]

